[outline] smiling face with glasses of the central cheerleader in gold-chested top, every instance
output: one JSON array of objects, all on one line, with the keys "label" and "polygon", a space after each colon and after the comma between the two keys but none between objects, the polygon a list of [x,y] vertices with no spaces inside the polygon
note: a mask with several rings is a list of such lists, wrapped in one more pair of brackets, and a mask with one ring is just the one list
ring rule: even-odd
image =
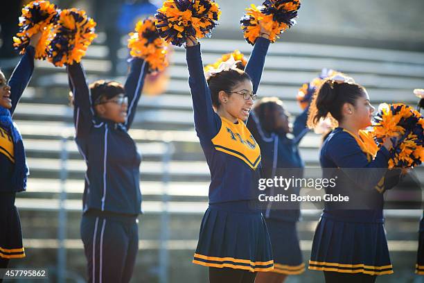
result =
[{"label": "smiling face with glasses of the central cheerleader in gold-chested top", "polygon": [[221,104],[218,112],[222,112],[225,118],[232,121],[237,119],[246,121],[254,104],[250,96],[249,99],[245,99],[244,96],[249,94],[253,94],[253,85],[250,80],[242,80],[230,92],[221,91],[219,94]]}]

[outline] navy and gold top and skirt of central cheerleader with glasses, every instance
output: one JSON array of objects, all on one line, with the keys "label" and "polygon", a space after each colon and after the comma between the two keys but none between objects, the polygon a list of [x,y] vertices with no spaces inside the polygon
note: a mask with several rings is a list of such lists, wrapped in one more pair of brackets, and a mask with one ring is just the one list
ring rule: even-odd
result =
[{"label": "navy and gold top and skirt of central cheerleader with glasses", "polygon": [[[269,40],[258,38],[245,71],[258,89]],[[213,111],[200,44],[186,48],[195,130],[211,171],[209,207],[200,227],[193,263],[216,268],[270,271],[270,238],[257,199],[260,148],[245,123]]]}]

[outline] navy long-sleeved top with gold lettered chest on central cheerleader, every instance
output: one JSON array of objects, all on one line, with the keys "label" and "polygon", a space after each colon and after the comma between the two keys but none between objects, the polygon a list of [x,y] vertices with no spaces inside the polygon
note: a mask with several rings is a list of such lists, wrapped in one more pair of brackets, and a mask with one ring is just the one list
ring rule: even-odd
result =
[{"label": "navy long-sleeved top with gold lettered chest on central cheerleader", "polygon": [[[254,92],[258,89],[269,44],[269,40],[259,38],[245,68]],[[213,110],[200,44],[187,47],[186,59],[195,130],[211,171],[209,203],[254,199],[261,171],[260,148],[243,121],[233,123]]]}]

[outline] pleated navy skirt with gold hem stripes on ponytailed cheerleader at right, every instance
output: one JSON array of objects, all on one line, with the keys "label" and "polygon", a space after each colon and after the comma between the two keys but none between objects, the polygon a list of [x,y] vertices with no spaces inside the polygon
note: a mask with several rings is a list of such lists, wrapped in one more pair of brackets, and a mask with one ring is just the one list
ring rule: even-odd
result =
[{"label": "pleated navy skirt with gold hem stripes on ponytailed cheerleader at right", "polygon": [[337,221],[321,216],[309,269],[339,273],[393,273],[383,223]]}]

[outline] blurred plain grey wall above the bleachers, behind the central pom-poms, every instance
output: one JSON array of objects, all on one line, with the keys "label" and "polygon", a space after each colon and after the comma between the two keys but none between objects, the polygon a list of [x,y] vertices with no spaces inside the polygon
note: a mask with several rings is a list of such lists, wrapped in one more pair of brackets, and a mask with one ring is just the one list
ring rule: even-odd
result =
[{"label": "blurred plain grey wall above the bleachers, behind the central pom-poms", "polygon": [[[238,20],[261,0],[216,0],[222,9],[217,37],[241,37]],[[298,24],[284,35],[291,42],[313,42],[424,51],[423,0],[308,0]]]}]

